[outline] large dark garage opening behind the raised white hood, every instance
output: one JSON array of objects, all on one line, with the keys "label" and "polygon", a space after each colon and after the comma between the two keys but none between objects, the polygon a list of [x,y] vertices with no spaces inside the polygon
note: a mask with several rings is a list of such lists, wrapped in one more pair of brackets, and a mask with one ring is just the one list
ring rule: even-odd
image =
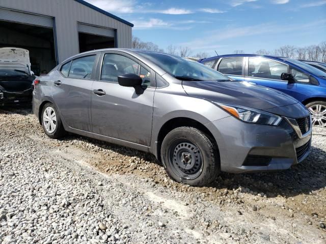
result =
[{"label": "large dark garage opening behind the raised white hood", "polygon": [[0,33],[0,47],[30,51],[31,70],[36,75],[57,65],[53,28],[0,20]]}]

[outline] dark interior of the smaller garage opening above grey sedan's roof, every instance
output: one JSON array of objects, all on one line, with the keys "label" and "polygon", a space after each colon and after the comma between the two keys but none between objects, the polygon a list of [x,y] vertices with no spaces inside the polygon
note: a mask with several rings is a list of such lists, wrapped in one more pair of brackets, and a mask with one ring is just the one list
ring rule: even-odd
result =
[{"label": "dark interior of the smaller garage opening above grey sedan's roof", "polygon": [[104,37],[78,32],[78,39],[79,52],[115,47],[115,40],[113,37]]}]

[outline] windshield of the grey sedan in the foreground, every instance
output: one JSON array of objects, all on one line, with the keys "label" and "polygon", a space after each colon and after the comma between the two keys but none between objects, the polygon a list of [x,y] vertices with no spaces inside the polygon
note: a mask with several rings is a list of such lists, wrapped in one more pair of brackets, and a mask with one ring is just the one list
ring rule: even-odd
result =
[{"label": "windshield of the grey sedan in the foreground", "polygon": [[179,80],[191,81],[226,81],[231,80],[225,75],[208,68],[198,62],[187,60],[182,57],[158,53],[138,51],[138,53],[149,59],[155,65]]}]

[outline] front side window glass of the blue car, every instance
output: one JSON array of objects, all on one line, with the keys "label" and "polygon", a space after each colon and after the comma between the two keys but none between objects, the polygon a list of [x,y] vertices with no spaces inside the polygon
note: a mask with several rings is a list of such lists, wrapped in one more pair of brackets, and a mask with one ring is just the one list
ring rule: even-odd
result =
[{"label": "front side window glass of the blue car", "polygon": [[288,66],[262,57],[249,57],[249,77],[281,80],[281,74],[288,72]]}]

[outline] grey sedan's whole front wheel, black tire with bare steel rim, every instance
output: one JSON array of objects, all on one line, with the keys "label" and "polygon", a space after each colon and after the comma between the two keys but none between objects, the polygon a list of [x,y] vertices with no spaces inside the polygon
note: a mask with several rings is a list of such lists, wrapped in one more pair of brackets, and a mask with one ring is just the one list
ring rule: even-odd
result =
[{"label": "grey sedan's whole front wheel, black tire with bare steel rim", "polygon": [[168,133],[161,145],[161,160],[172,179],[190,186],[205,186],[221,171],[217,146],[193,127]]}]

